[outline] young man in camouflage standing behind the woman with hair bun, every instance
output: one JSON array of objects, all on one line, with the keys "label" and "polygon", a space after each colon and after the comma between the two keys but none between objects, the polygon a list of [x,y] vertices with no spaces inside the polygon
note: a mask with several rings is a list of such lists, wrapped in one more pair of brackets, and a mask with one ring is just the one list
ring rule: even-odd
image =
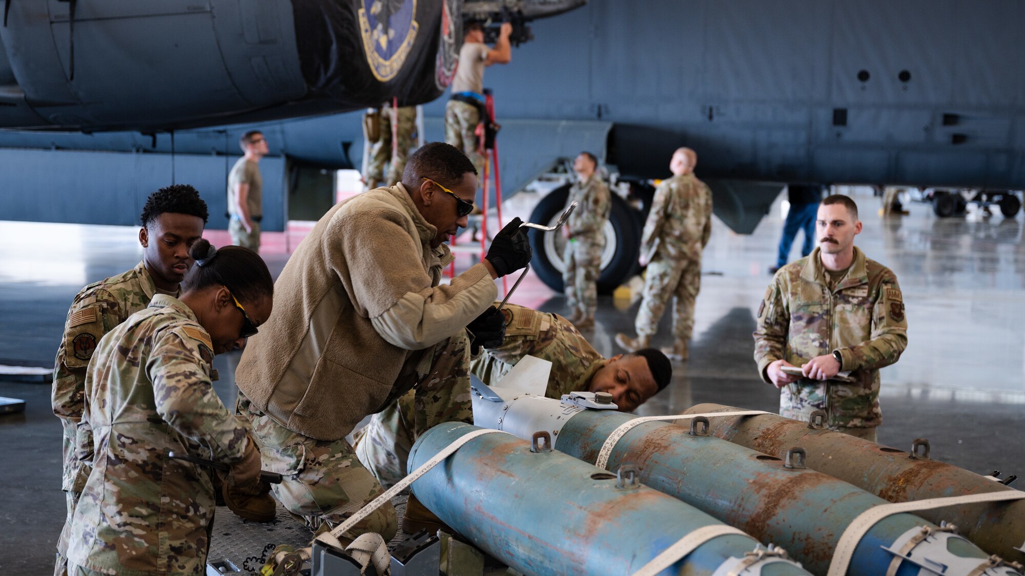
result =
[{"label": "young man in camouflage standing behind the woman with hair bun", "polygon": [[[206,204],[196,190],[187,184],[171,186],[154,193],[142,208],[146,258],[134,269],[94,282],[83,288],[72,301],[65,321],[64,336],[57,348],[53,369],[51,404],[64,427],[61,489],[68,504],[68,518],[57,540],[54,573],[65,573],[68,532],[79,494],[92,471],[92,428],[82,418],[85,409],[87,367],[97,343],[105,334],[129,316],[145,310],[158,290],[147,269],[155,266],[163,283],[176,283],[183,277],[192,259],[188,246],[203,233]],[[175,266],[179,270],[174,270]],[[177,292],[175,286],[174,292]],[[166,293],[166,292],[165,292]]]}]

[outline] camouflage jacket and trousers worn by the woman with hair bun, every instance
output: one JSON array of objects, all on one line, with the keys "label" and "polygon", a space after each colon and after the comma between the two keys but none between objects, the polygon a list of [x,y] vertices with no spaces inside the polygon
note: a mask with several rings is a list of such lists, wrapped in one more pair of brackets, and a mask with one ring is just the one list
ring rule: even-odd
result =
[{"label": "camouflage jacket and trousers worn by the woman with hair bun", "polygon": [[210,471],[167,453],[235,463],[253,449],[211,385],[210,335],[181,300],[157,294],[93,356],[85,419],[97,458],[72,522],[69,572],[205,574]]}]

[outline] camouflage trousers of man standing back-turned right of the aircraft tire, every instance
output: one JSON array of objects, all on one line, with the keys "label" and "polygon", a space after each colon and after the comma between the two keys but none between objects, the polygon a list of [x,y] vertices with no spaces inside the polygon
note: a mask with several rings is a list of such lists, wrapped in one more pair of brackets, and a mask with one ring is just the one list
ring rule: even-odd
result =
[{"label": "camouflage trousers of man standing back-turned right of the aircraft tire", "polygon": [[672,306],[672,335],[688,341],[694,332],[694,300],[701,290],[701,260],[669,260],[660,255],[648,264],[644,299],[634,322],[639,336],[654,336],[669,298]]}]

